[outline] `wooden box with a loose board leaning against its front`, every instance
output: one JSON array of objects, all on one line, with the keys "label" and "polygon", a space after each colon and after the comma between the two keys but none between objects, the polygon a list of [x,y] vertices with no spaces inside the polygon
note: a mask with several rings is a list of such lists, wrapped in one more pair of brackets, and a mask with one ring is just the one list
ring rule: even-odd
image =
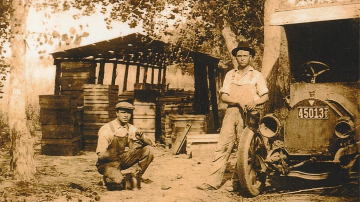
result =
[{"label": "wooden box with a loose board leaning against its front", "polygon": [[[206,115],[198,115],[198,114],[173,114],[170,115],[171,120],[171,128],[172,128],[172,144],[176,141],[176,138],[180,136],[182,133],[185,132],[186,124],[191,124],[191,128],[187,134],[194,135],[194,134],[206,134],[207,133],[207,117]],[[185,145],[180,150],[180,153],[184,153]]]}]

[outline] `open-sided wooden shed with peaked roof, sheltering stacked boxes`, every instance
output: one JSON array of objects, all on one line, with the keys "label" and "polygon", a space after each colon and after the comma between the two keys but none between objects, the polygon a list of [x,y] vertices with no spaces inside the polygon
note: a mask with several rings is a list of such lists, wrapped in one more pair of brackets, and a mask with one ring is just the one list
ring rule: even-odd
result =
[{"label": "open-sided wooden shed with peaked roof, sheltering stacked boxes", "polygon": [[[139,111],[134,113],[134,121],[141,119],[149,123],[153,121],[150,119],[154,118],[154,114],[156,116],[162,114],[159,105],[167,101],[176,100],[181,103],[186,100],[187,103],[191,102],[192,112],[188,110],[189,105],[186,105],[186,112],[180,112],[182,107],[178,105],[172,106],[172,109],[176,108],[180,113],[207,115],[213,130],[220,128],[217,92],[219,86],[216,79],[218,58],[190,51],[181,46],[166,44],[139,33],[59,51],[51,55],[56,65],[54,95],[73,95],[77,98],[78,108],[87,105],[84,108],[84,117],[89,113],[108,110],[108,113],[101,112],[97,116],[87,116],[87,120],[94,117],[96,119],[90,127],[92,131],[87,128],[87,122],[84,120],[84,134],[87,132],[93,134],[91,138],[84,135],[85,147],[87,143],[93,144],[91,150],[94,149],[94,144],[96,145],[96,130],[106,121],[114,118],[110,115],[114,103],[126,99],[144,109],[143,114]],[[193,63],[195,90],[192,94],[173,90],[173,96],[166,97],[168,90],[166,68],[181,62]],[[99,88],[101,85],[104,87]],[[114,95],[111,95],[114,90],[119,90],[119,95],[116,101],[111,101],[114,100]],[[96,94],[97,92],[100,94]],[[88,106],[89,103],[97,103],[97,105]],[[174,104],[174,102],[170,103]],[[163,124],[161,120],[162,118],[156,117],[156,140],[161,139],[161,129],[159,129]],[[97,124],[98,126],[95,127]],[[148,129],[149,133],[154,132],[153,128]]]}]

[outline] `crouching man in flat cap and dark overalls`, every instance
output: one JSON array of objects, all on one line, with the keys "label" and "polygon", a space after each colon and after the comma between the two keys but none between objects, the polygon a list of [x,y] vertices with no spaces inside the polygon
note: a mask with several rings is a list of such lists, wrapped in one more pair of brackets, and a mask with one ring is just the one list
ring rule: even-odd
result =
[{"label": "crouching man in flat cap and dark overalls", "polygon": [[124,188],[121,170],[136,164],[134,175],[141,177],[154,159],[153,141],[128,123],[135,107],[119,102],[115,109],[117,118],[100,128],[96,149],[96,166],[108,190]]}]

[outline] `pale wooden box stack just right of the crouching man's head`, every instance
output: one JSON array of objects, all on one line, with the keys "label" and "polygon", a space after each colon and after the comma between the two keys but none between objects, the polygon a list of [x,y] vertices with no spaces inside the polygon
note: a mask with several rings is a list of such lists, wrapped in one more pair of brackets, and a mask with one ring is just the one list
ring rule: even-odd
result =
[{"label": "pale wooden box stack just right of the crouching man's head", "polygon": [[134,102],[133,125],[155,141],[156,104],[152,102]]}]

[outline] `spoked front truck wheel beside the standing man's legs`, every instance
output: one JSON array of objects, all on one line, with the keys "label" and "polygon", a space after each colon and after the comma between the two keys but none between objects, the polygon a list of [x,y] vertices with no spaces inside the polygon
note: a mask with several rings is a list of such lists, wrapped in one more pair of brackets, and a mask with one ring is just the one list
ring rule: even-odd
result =
[{"label": "spoked front truck wheel beside the standing man's legs", "polygon": [[[246,131],[247,130],[247,131]],[[237,174],[244,197],[256,197],[265,186],[266,173],[259,172],[258,157],[266,158],[266,147],[259,134],[245,128],[241,134],[237,156]]]}]

